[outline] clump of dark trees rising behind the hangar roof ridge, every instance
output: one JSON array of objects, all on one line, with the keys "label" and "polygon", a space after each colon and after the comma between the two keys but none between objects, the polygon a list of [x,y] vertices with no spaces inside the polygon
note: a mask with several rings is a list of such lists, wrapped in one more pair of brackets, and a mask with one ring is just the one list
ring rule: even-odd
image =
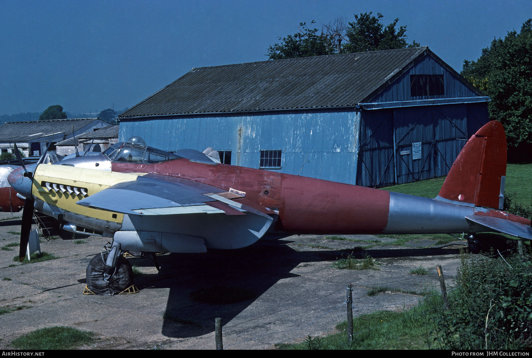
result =
[{"label": "clump of dark trees rising behind the hangar roof ridge", "polygon": [[316,28],[306,27],[306,23],[301,22],[301,32],[284,38],[279,37],[281,42],[270,46],[267,56],[270,60],[280,60],[419,46],[415,41],[411,44],[406,42],[406,26],[396,29],[399,19],[384,26],[380,20],[383,14],[371,14],[366,12],[360,16],[354,15],[355,21],[347,24],[343,18],[336,18],[334,22],[323,24],[320,32]]}]

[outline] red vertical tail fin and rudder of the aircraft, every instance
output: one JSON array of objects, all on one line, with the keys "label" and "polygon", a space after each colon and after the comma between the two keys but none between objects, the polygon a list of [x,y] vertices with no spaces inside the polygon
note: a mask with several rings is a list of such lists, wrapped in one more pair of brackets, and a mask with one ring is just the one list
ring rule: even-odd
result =
[{"label": "red vertical tail fin and rudder of the aircraft", "polygon": [[465,143],[436,199],[502,209],[506,176],[506,135],[491,121]]}]

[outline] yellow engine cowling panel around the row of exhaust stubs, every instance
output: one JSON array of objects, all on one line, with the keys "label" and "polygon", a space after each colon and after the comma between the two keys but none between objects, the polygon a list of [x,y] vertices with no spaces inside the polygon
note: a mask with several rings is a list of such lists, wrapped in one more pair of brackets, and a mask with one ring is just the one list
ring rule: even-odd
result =
[{"label": "yellow engine cowling panel around the row of exhaust stubs", "polygon": [[[68,210],[73,213],[85,215],[87,217],[102,219],[112,222],[121,223],[124,215],[120,213],[112,213],[110,211],[92,209],[77,205],[76,202],[84,197],[88,197],[100,190],[109,188],[114,184],[124,181],[136,180],[139,175],[137,173],[119,173],[87,168],[76,168],[67,165],[48,165],[40,164],[34,174],[34,186],[32,193],[36,198],[44,202]],[[51,189],[46,188],[46,183],[55,184],[55,188],[51,185]],[[63,186],[61,190],[60,186]],[[76,195],[75,193],[68,193],[67,187],[84,188],[87,189],[87,195]],[[78,190],[79,191],[79,190]],[[110,198],[110,200],[112,200]],[[114,218],[113,218],[114,215]]]}]

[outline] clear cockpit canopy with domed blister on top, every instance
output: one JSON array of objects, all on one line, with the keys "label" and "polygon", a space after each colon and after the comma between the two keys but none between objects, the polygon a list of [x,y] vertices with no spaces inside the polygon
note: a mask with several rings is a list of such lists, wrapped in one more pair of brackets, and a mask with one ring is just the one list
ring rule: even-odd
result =
[{"label": "clear cockpit canopy with domed blister on top", "polygon": [[126,143],[113,144],[103,152],[103,155],[113,162],[120,163],[162,163],[182,158],[170,152],[161,151],[161,149],[148,147],[144,140],[129,142],[128,140]]}]

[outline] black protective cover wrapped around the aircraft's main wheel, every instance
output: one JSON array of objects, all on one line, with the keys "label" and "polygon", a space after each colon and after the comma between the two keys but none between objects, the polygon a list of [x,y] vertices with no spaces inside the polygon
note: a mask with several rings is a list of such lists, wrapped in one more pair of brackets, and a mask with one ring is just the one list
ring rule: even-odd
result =
[{"label": "black protective cover wrapped around the aircraft's main wheel", "polygon": [[124,289],[133,284],[133,270],[131,264],[122,255],[118,257],[117,269],[109,282],[104,281],[103,274],[107,269],[104,264],[107,254],[98,254],[90,260],[87,266],[87,287],[96,295],[113,296],[118,295]]}]

